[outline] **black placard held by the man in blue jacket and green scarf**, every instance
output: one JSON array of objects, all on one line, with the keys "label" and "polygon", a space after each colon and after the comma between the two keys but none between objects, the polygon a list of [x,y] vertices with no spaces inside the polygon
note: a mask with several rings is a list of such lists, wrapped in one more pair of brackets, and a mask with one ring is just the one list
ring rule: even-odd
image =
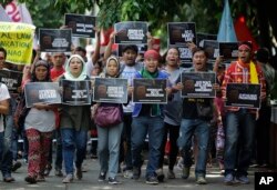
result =
[{"label": "black placard held by the man in blue jacket and green scarf", "polygon": [[166,79],[133,79],[133,102],[167,103]]}]

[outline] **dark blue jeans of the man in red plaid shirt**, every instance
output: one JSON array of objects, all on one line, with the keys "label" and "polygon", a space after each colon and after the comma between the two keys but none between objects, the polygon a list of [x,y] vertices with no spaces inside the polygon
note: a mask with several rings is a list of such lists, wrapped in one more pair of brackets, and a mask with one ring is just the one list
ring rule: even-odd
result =
[{"label": "dark blue jeans of the man in red plaid shirt", "polygon": [[[227,112],[225,132],[225,174],[247,176],[255,139],[255,114],[240,109]],[[239,142],[239,143],[238,143]]]}]

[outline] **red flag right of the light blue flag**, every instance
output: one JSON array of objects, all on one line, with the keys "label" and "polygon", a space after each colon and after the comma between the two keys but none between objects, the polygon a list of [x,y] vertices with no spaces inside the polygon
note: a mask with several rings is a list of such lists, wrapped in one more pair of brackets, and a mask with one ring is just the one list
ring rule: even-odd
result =
[{"label": "red flag right of the light blue flag", "polygon": [[245,17],[240,16],[235,22],[235,31],[238,41],[252,41],[253,50],[256,51],[259,47],[253,38],[250,30],[246,26]]}]

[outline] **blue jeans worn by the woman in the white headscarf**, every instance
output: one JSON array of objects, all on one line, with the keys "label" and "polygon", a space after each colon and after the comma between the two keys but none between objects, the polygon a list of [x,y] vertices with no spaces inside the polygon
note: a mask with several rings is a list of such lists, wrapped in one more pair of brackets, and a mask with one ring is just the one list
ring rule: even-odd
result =
[{"label": "blue jeans worn by the woman in the white headscarf", "polygon": [[62,128],[62,153],[65,166],[65,173],[73,174],[73,160],[76,149],[75,167],[81,168],[85,158],[88,131],[76,131],[72,128]]}]

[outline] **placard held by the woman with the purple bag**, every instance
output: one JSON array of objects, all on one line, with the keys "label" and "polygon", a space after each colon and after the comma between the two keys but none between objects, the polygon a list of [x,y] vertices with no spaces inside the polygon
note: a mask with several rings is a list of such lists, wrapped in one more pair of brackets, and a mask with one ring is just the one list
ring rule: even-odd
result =
[{"label": "placard held by the woman with the purple bag", "polygon": [[127,79],[95,78],[93,101],[110,103],[127,102]]}]

